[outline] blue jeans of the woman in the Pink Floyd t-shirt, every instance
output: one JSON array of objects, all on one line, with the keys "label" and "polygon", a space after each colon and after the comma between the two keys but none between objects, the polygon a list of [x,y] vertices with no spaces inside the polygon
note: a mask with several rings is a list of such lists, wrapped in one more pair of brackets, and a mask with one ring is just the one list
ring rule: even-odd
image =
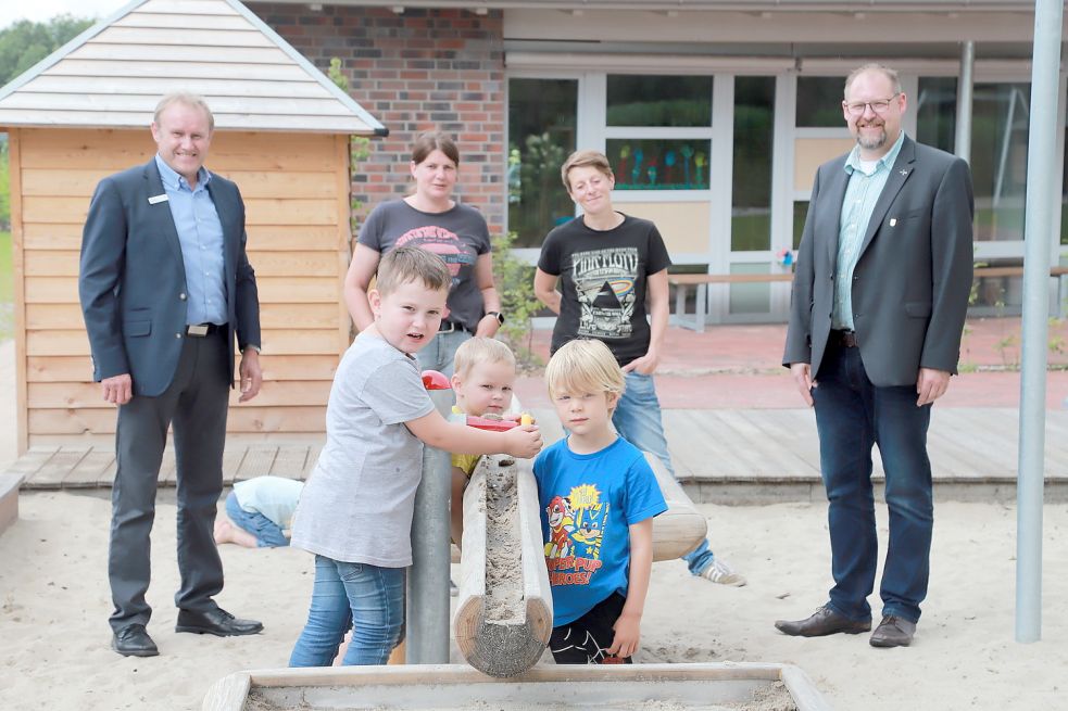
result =
[{"label": "blue jeans of the woman in the Pink Floyd t-shirt", "polygon": [[[661,402],[656,397],[656,383],[652,376],[643,376],[633,370],[627,373],[627,389],[616,405],[616,411],[612,414],[612,423],[619,436],[642,452],[654,455],[664,462],[668,473],[676,477],[671,455],[667,452]],[[696,550],[682,556],[694,575],[700,575],[715,558],[708,548],[707,538],[701,542]]]}]

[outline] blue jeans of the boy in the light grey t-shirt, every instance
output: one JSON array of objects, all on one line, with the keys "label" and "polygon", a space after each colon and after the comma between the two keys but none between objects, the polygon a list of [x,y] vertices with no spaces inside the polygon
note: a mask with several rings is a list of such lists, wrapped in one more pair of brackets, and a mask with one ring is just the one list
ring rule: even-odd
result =
[{"label": "blue jeans of the boy in the light grey t-shirt", "polygon": [[350,627],[352,642],[342,664],[385,664],[400,642],[403,623],[403,568],[315,556],[312,606],[289,665],[329,666]]}]

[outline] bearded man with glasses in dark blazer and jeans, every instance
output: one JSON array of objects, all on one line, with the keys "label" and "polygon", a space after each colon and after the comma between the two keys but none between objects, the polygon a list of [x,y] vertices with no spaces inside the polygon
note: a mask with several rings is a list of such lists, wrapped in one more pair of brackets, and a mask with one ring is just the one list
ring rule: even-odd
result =
[{"label": "bearded man with glasses in dark blazer and jeans", "polygon": [[927,429],[957,368],[975,204],[964,161],[904,135],[906,107],[893,69],[854,71],[842,112],[856,145],[821,165],[813,183],[783,365],[816,408],[834,586],[812,617],[775,623],[789,635],[871,629],[874,444],[887,474],[890,542],[871,645],[907,646],[927,595]]}]

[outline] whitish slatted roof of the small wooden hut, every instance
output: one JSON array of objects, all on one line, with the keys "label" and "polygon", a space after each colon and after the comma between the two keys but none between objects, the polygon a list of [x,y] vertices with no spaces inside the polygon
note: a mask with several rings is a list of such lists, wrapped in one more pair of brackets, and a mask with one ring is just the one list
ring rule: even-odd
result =
[{"label": "whitish slatted roof of the small wooden hut", "polygon": [[0,126],[140,128],[177,90],[221,129],[387,132],[237,0],[135,0],[0,89]]}]

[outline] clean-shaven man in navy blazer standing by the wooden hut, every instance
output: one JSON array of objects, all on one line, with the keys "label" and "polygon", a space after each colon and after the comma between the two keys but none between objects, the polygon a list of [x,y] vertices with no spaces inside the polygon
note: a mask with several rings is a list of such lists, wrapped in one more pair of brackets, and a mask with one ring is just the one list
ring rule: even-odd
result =
[{"label": "clean-shaven man in navy blazer standing by the wooden hut", "polygon": [[242,402],[260,390],[260,304],[244,252],[244,203],[204,167],[214,118],[203,99],[160,101],[158,154],[97,186],[81,239],[78,291],[93,379],[118,406],[108,574],[112,648],[159,653],[146,631],[152,610],[149,537],[155,486],[173,424],[177,456],[177,632],[254,634],[212,599],[223,566],[212,536],[223,488],[234,339]]}]

